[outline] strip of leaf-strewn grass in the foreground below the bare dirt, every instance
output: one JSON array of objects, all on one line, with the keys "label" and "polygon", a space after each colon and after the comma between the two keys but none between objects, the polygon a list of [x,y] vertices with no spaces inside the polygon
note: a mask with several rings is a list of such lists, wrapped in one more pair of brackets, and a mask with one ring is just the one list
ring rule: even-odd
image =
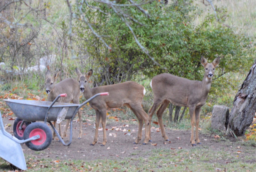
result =
[{"label": "strip of leaf-strewn grass in the foreground below the bare dirt", "polygon": [[[241,143],[238,143],[241,144]],[[227,144],[228,145],[228,144]],[[105,160],[48,160],[27,157],[27,171],[254,171],[255,149],[244,147],[239,152],[237,143],[217,149],[198,146],[186,149],[152,149],[138,152],[139,158]],[[14,170],[0,160],[0,169]]]}]

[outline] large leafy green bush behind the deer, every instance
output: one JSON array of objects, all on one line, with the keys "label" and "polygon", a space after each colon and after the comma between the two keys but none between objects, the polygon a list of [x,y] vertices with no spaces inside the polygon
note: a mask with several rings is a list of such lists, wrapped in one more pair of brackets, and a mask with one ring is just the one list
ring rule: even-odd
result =
[{"label": "large leafy green bush behind the deer", "polygon": [[[93,63],[90,67],[99,74],[94,77],[100,84],[132,80],[140,72],[147,77],[168,72],[201,80],[201,55],[210,62],[216,56],[221,57],[217,78],[229,72],[244,70],[251,65],[248,64],[252,60],[252,52],[247,47],[249,40],[243,35],[235,34],[233,28],[224,26],[222,21],[225,18],[216,22],[215,16],[209,14],[201,23],[195,24],[195,18],[201,11],[191,0],[169,2],[166,6],[157,1],[145,3],[142,8],[150,17],[134,6],[120,7],[127,16],[131,16],[124,20],[127,23],[124,23],[120,18],[122,15],[118,15],[113,8],[94,1],[90,3],[89,5],[99,10],[83,4],[83,13],[111,50],[81,20],[76,21],[75,30],[80,40],[77,41],[78,46],[84,47],[92,56]],[[218,15],[223,16],[225,12],[220,10]],[[141,51],[127,24],[159,65]],[[212,87],[213,94],[215,88],[227,88],[229,83],[221,80],[214,82]]]}]

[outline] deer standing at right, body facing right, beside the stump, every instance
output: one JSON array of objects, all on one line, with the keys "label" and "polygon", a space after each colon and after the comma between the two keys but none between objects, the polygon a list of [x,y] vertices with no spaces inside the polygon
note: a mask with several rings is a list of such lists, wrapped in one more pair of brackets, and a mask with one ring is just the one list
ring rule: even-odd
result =
[{"label": "deer standing at right, body facing right, beside the stump", "polygon": [[[212,77],[214,75],[215,68],[220,63],[220,57],[214,59],[212,63],[208,63],[203,56],[200,60],[201,64],[204,66],[204,78],[202,81],[192,81],[172,74],[163,73],[154,76],[150,82],[150,86],[154,95],[154,103],[148,111],[149,130],[151,129],[152,116],[156,109],[161,105],[157,110],[156,115],[158,118],[158,124],[160,125],[162,136],[165,141],[170,140],[166,136],[164,130],[162,114],[171,102],[173,105],[176,106],[188,107],[191,122],[191,145],[196,146],[196,143],[201,144],[198,137],[200,111],[201,107],[206,102],[207,95],[211,88]],[[196,139],[194,140],[195,122]],[[151,141],[150,132],[149,139],[149,141]]]}]

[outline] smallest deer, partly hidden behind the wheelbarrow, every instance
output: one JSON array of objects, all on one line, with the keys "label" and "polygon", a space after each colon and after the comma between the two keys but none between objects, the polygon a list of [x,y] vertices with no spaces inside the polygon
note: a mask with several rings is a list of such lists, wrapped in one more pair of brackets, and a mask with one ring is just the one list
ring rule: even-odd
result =
[{"label": "smallest deer, partly hidden behind the wheelbarrow", "polygon": [[[48,101],[53,101],[58,95],[66,93],[67,97],[60,97],[57,101],[58,102],[64,102],[64,103],[75,103],[79,104],[79,97],[80,97],[80,89],[79,89],[79,83],[73,79],[73,78],[66,78],[58,83],[55,84],[56,79],[58,78],[60,74],[60,71],[55,73],[53,76],[51,75],[51,72],[49,69],[47,69],[46,74],[45,74],[45,91],[47,93],[47,100]],[[82,138],[82,113],[80,110],[78,110],[78,118],[79,118],[79,134],[78,134],[78,139]],[[68,130],[68,125],[70,123],[70,119],[67,120],[67,124],[65,126],[64,132],[61,135],[60,131],[60,124],[59,124],[59,132],[60,136],[66,137],[67,136],[67,130]],[[56,125],[56,121],[53,122],[54,127]],[[54,138],[56,135],[55,132],[53,132],[53,137]]]}]

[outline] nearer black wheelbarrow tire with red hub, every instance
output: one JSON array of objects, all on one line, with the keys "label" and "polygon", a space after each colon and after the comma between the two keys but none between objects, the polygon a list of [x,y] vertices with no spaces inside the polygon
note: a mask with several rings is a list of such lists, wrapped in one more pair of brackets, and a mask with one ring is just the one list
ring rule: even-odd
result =
[{"label": "nearer black wheelbarrow tire with red hub", "polygon": [[24,131],[24,140],[39,135],[40,138],[25,144],[34,151],[46,149],[52,142],[52,130],[42,122],[33,122]]}]

